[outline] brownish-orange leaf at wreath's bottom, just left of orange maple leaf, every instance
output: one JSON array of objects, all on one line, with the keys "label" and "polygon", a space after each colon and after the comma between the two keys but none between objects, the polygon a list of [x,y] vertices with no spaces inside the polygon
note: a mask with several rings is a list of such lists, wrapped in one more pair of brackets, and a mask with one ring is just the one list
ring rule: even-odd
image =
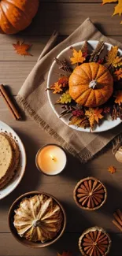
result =
[{"label": "brownish-orange leaf at wreath's bottom, just left of orange maple leaf", "polygon": [[72,116],[69,119],[69,125],[76,125],[77,127],[81,127],[81,128],[87,128],[90,126],[90,123],[87,119],[87,117],[76,117],[76,116]]}]

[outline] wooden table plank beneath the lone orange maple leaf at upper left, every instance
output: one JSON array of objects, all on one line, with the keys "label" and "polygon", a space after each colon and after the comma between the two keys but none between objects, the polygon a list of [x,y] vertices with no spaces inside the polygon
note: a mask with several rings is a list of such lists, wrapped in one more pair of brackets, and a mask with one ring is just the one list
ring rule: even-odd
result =
[{"label": "wooden table plank beneath the lone orange maple leaf at upper left", "polygon": [[[57,44],[61,43],[67,36],[58,36]],[[41,54],[44,46],[46,45],[50,35],[0,35],[0,61],[37,61],[39,58],[39,54]],[[116,39],[122,43],[121,36],[113,36],[113,39]],[[28,43],[31,46],[30,53],[31,56],[20,56],[16,54],[16,51],[13,50],[13,43],[17,43],[17,41]],[[16,64],[17,65],[17,64]],[[23,65],[23,64],[22,64]]]}]

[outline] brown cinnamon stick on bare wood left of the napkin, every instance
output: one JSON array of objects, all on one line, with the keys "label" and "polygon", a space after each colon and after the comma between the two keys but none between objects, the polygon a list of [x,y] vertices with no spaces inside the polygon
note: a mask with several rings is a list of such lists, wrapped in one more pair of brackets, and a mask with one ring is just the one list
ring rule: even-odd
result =
[{"label": "brown cinnamon stick on bare wood left of the napkin", "polygon": [[6,92],[6,88],[3,84],[0,84],[0,93],[2,98],[5,100],[6,105],[9,107],[10,112],[13,115],[13,118],[19,120],[21,118],[20,113],[18,113],[17,108],[14,106],[13,102],[9,98],[9,95]]}]

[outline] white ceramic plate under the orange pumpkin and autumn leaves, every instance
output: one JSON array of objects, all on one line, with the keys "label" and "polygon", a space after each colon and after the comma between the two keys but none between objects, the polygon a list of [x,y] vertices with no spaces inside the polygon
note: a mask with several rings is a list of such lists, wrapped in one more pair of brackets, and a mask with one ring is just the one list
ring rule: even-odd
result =
[{"label": "white ceramic plate under the orange pumpkin and autumn leaves", "polygon": [[[81,46],[83,45],[84,42],[80,42],[80,43],[75,43],[72,46],[75,47],[76,50],[79,50],[81,48]],[[94,50],[94,48],[97,46],[98,41],[88,41],[91,50]],[[105,43],[105,46],[107,48],[107,50],[111,49],[111,44],[109,43]],[[62,60],[63,58],[65,58],[67,61],[69,61],[69,56],[71,54],[71,50],[70,50],[71,46],[68,46],[67,48],[65,48],[65,50],[62,50],[61,53],[57,56],[57,58],[59,58],[60,60]],[[122,55],[122,50],[119,49],[120,54]],[[54,82],[56,82],[59,78],[59,69],[58,69],[58,65],[56,63],[56,61],[53,62],[53,64],[50,67],[50,71],[48,74],[48,79],[47,79],[47,88],[50,87],[51,84],[53,84]],[[54,95],[52,93],[52,91],[48,90],[47,91],[47,95],[48,95],[48,99],[50,102],[50,106],[52,107],[52,109],[54,110],[54,113],[56,113],[57,117],[60,116],[60,113],[62,111],[61,109],[61,105],[55,105],[55,102],[57,101],[57,98],[59,98],[59,95]],[[61,117],[61,121],[63,121],[65,124],[68,125],[69,123],[69,117],[70,115],[66,115],[65,117]],[[101,125],[97,125],[97,127],[95,128],[95,130],[93,132],[105,132],[111,128],[116,127],[118,124],[120,124],[120,118],[117,118],[115,121],[112,121],[111,118],[109,118],[109,120],[105,120],[102,122]],[[75,125],[68,125],[70,128],[73,128],[77,131],[81,131],[81,132],[90,132],[90,128],[77,128]]]}]

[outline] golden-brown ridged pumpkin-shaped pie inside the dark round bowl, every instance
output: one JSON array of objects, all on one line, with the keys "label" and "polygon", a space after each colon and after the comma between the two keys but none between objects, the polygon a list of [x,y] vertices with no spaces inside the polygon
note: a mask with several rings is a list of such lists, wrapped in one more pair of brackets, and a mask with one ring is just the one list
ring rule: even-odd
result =
[{"label": "golden-brown ridged pumpkin-shaped pie inside the dark round bowl", "polygon": [[62,226],[61,207],[47,195],[23,198],[15,210],[14,227],[20,237],[45,243],[56,238]]}]

